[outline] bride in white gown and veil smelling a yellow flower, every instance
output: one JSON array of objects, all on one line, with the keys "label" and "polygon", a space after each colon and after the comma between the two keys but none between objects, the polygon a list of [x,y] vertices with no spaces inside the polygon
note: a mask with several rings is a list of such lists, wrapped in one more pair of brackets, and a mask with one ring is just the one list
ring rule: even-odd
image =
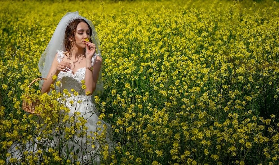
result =
[{"label": "bride in white gown and veil smelling a yellow flower", "polygon": [[[47,147],[60,147],[62,157],[71,159],[71,162],[100,164],[100,153],[103,149],[106,148],[107,152],[111,152],[116,145],[112,141],[111,126],[99,119],[99,113],[94,105],[94,96],[103,92],[101,64],[100,41],[92,22],[80,16],[78,11],[64,15],[41,56],[39,69],[42,77],[47,78],[44,82],[40,82],[41,92],[50,94],[51,90],[56,90],[63,93],[62,91],[66,90],[69,93],[63,104],[69,108],[67,113],[69,118],[82,117],[81,120],[87,121],[83,127],[86,128],[85,138],[75,134],[72,137],[73,142],[61,145],[58,143],[61,137],[53,136],[51,145]],[[55,83],[53,77],[57,77],[60,83]],[[78,95],[76,91],[79,91]],[[66,124],[65,128],[69,129],[73,123]],[[8,150],[11,158],[22,158],[20,152],[16,151],[18,145],[19,143],[14,143]],[[36,147],[36,144],[33,147],[28,146],[26,150],[36,152]]]}]

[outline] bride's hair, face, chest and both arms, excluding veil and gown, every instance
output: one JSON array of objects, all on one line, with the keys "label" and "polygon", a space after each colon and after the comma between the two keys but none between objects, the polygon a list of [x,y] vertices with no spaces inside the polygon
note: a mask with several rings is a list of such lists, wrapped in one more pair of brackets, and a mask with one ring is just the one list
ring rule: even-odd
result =
[{"label": "bride's hair, face, chest and both arms, excluding veil and gown", "polygon": [[[101,69],[102,58],[100,54],[96,55],[96,46],[86,41],[92,35],[90,25],[82,18],[73,20],[65,30],[64,46],[66,52],[59,50],[54,57],[47,80],[42,85],[42,93],[50,91],[50,85],[54,84],[52,76],[62,72],[70,72],[72,75],[79,69],[85,68],[85,93],[91,95],[95,91],[99,72]],[[85,51],[86,49],[86,51]],[[93,58],[94,56],[94,58]],[[85,60],[83,60],[85,59]],[[94,65],[94,67],[93,67]],[[60,76],[59,80],[61,80]]]}]

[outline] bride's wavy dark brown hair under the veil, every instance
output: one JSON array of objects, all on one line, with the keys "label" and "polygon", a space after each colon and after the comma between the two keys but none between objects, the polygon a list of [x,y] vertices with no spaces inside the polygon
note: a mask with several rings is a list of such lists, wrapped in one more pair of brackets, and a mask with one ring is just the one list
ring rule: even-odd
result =
[{"label": "bride's wavy dark brown hair under the veil", "polygon": [[[70,22],[70,24],[67,26],[67,28],[65,30],[65,37],[64,37],[64,45],[65,45],[67,53],[70,52],[72,44],[75,42],[76,29],[77,29],[78,24],[81,22],[85,22],[88,25],[88,28],[90,30],[90,36],[92,35],[92,29],[85,20],[76,19],[76,20],[73,20],[72,22]],[[70,38],[72,38],[72,41],[69,40]],[[88,38],[88,39],[90,42],[92,42],[91,38]],[[71,57],[69,57],[69,58],[71,58]]]}]

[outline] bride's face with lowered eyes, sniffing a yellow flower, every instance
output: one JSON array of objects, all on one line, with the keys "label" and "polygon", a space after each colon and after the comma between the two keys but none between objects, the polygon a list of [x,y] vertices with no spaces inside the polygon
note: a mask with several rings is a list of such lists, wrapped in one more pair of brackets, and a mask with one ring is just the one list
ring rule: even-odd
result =
[{"label": "bride's face with lowered eyes, sniffing a yellow flower", "polygon": [[90,30],[85,22],[80,22],[75,32],[75,45],[77,47],[86,48],[85,39],[90,38]]}]

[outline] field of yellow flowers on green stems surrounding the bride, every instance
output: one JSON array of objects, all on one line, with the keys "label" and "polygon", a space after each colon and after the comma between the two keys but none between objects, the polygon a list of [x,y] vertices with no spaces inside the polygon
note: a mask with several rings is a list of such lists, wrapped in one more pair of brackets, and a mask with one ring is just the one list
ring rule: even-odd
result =
[{"label": "field of yellow flowers on green stems surrounding the bride", "polygon": [[[56,105],[38,82],[27,86],[59,20],[77,10],[101,41],[104,93],[95,105],[118,144],[112,154],[104,147],[104,164],[279,163],[278,3],[163,0],[1,2],[0,164],[13,142],[47,139],[68,120],[42,113],[48,127],[38,135],[43,124],[21,104],[29,95]],[[75,129],[57,128],[69,138]],[[10,163],[80,163],[59,148],[20,152]]]}]

